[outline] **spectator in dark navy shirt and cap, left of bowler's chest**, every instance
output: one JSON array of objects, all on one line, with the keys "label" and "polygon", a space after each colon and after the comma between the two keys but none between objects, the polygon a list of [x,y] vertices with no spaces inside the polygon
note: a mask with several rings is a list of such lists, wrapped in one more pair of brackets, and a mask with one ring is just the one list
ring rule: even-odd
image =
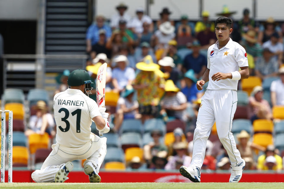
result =
[{"label": "spectator in dark navy shirt and cap, left of bowler's chest", "polygon": [[198,40],[192,43],[192,53],[185,56],[183,60],[183,71],[193,69],[196,78],[203,76],[207,68],[207,58],[200,54],[200,43]]}]

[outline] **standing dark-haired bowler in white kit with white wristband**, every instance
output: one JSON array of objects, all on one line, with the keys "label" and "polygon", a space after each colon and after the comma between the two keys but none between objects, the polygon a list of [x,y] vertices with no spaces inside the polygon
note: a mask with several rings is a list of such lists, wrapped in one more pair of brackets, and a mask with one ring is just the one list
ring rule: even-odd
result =
[{"label": "standing dark-haired bowler in white kit with white wristband", "polygon": [[209,81],[207,90],[201,98],[197,116],[191,164],[189,167],[180,167],[181,175],[193,182],[200,182],[200,168],[204,160],[206,141],[215,121],[219,139],[232,164],[229,182],[238,182],[245,167],[245,161],[236,148],[231,128],[238,101],[238,80],[249,77],[249,65],[245,49],[229,38],[232,32],[231,25],[230,18],[219,17],[216,20],[215,33],[218,41],[208,48],[207,69],[202,80],[196,83],[197,89],[201,90]]}]

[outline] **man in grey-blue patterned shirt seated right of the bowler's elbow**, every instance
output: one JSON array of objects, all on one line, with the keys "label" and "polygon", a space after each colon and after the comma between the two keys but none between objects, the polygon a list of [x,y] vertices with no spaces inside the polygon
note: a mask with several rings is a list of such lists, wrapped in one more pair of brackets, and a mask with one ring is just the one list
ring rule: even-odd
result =
[{"label": "man in grey-blue patterned shirt seated right of the bowler's elbow", "polygon": [[259,58],[255,63],[255,74],[261,79],[265,79],[271,76],[277,76],[279,64],[277,57],[273,56],[273,53],[269,48],[263,49],[263,56]]}]

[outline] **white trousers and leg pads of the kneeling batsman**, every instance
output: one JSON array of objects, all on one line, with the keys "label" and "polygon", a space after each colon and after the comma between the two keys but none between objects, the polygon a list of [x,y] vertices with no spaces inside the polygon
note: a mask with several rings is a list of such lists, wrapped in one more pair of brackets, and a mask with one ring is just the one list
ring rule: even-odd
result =
[{"label": "white trousers and leg pads of the kneeling batsman", "polygon": [[37,182],[54,182],[54,177],[60,167],[66,162],[77,159],[87,159],[85,163],[92,162],[99,173],[104,157],[106,156],[106,137],[91,133],[90,142],[87,142],[80,148],[70,148],[59,144],[53,144],[52,151],[43,162],[41,170],[35,170],[32,173],[32,179]]}]

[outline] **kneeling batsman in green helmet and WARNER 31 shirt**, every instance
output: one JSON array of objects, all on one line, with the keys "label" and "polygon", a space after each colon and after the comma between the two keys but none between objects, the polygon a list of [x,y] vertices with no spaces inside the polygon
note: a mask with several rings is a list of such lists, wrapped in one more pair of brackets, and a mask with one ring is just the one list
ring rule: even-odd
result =
[{"label": "kneeling batsman in green helmet and WARNER 31 shirt", "polygon": [[95,122],[100,133],[109,132],[108,113],[84,93],[90,94],[91,79],[87,71],[78,69],[68,77],[70,89],[54,96],[54,118],[57,125],[56,144],[44,161],[41,170],[35,170],[35,182],[59,182],[68,179],[71,161],[87,159],[84,172],[91,183],[100,182],[99,168],[106,155],[106,138],[91,133]]}]

